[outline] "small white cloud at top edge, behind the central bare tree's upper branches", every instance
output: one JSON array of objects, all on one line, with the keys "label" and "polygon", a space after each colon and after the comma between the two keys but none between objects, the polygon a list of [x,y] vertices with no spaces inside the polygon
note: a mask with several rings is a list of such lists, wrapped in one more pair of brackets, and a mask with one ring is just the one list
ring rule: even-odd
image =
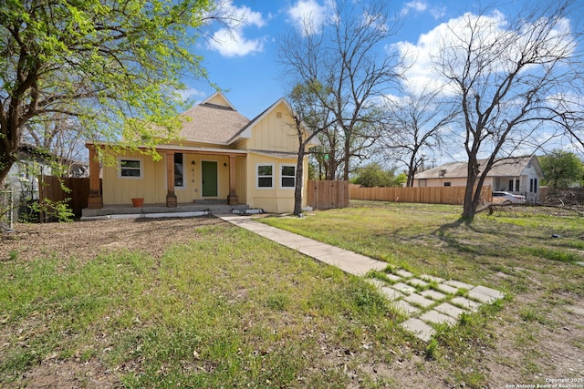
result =
[{"label": "small white cloud at top edge, behind the central bare tree's upper branches", "polygon": [[311,35],[320,32],[322,25],[332,16],[333,9],[334,3],[330,0],[325,0],[323,5],[317,0],[298,0],[287,10],[287,15],[302,34]]}]

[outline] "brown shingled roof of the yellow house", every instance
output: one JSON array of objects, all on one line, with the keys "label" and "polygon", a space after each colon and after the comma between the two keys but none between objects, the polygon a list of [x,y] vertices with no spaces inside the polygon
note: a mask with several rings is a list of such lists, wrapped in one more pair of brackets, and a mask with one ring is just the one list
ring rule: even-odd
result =
[{"label": "brown shingled roof of the yellow house", "polygon": [[185,111],[183,117],[190,118],[183,123],[183,138],[215,144],[228,144],[250,122],[235,110],[221,92]]}]

